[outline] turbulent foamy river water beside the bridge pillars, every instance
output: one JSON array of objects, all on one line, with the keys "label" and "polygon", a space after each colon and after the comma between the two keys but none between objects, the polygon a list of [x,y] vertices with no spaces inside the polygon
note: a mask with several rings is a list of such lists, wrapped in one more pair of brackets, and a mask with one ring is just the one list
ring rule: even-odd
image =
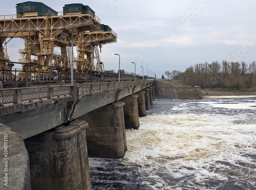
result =
[{"label": "turbulent foamy river water beside the bridge pillars", "polygon": [[93,189],[256,189],[256,97],[156,100],[124,158],[90,158]]}]

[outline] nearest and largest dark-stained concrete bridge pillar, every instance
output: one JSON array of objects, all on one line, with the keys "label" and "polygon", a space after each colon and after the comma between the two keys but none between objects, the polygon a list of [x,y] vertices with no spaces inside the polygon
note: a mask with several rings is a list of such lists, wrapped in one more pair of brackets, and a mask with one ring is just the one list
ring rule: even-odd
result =
[{"label": "nearest and largest dark-stained concrete bridge pillar", "polygon": [[85,121],[25,139],[32,189],[92,189]]}]

